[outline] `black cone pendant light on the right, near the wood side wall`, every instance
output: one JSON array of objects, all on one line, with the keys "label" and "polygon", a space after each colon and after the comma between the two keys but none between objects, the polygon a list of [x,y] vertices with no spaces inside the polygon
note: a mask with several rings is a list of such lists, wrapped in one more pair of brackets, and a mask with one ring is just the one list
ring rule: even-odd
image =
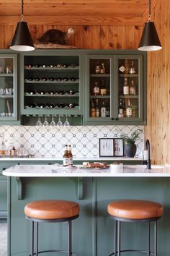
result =
[{"label": "black cone pendant light on the right, near the wood side wall", "polygon": [[138,50],[158,51],[161,48],[161,42],[158,39],[155,24],[151,22],[151,0],[148,0],[148,22],[145,24]]}]

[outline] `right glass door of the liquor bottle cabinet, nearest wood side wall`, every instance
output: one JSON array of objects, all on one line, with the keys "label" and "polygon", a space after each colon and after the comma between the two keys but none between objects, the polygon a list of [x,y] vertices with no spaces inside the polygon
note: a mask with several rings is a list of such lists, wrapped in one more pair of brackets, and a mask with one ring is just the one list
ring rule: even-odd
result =
[{"label": "right glass door of the liquor bottle cabinet, nearest wood side wall", "polygon": [[143,119],[143,75],[141,56],[117,56],[117,118],[119,121]]}]

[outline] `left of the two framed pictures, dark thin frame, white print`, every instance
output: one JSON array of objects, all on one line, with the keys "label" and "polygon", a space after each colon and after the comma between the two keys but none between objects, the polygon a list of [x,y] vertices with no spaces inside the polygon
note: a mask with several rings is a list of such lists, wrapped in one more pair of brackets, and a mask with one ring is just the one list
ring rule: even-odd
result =
[{"label": "left of the two framed pictures, dark thin frame, white print", "polygon": [[99,156],[114,156],[113,139],[99,139]]}]

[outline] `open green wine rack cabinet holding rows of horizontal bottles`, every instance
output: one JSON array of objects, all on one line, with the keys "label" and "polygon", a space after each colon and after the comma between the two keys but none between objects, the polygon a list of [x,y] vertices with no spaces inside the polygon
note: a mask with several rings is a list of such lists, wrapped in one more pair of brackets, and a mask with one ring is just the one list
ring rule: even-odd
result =
[{"label": "open green wine rack cabinet holding rows of horizontal bottles", "polygon": [[21,62],[21,114],[82,114],[78,51],[39,50],[23,54]]}]

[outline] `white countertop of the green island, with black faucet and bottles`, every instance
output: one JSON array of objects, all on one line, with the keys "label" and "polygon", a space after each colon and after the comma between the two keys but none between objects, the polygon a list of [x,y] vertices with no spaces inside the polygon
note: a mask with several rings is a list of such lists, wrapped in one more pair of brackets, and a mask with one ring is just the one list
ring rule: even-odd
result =
[{"label": "white countertop of the green island, with black faucet and bottles", "polygon": [[3,171],[5,176],[18,177],[170,177],[167,166],[124,165],[120,170],[68,168],[56,165],[15,165]]}]

